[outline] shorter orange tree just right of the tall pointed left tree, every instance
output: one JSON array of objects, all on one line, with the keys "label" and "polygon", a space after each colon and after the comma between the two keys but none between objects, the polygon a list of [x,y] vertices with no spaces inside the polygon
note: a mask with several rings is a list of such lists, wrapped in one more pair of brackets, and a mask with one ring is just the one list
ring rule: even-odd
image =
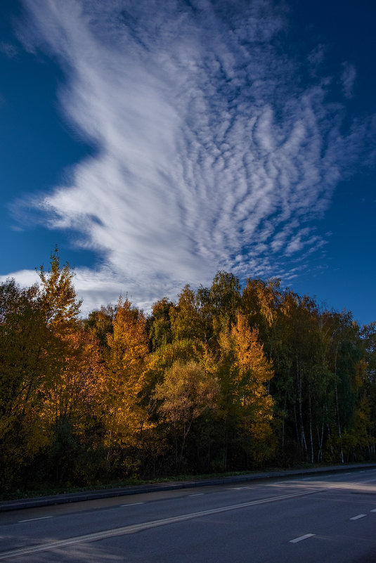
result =
[{"label": "shorter orange tree just right of the tall pointed left tree", "polygon": [[101,456],[104,458],[94,432],[100,420],[104,366],[98,340],[80,323],[65,334],[63,347],[59,370],[40,389],[41,422],[53,431],[48,463],[53,480],[89,484],[100,470]]}]

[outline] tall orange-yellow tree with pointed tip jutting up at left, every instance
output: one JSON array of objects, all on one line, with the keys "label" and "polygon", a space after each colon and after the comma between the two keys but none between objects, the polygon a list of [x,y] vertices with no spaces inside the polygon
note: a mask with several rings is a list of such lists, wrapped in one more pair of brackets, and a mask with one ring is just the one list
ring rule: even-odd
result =
[{"label": "tall orange-yellow tree with pointed tip jutting up at left", "polygon": [[[98,344],[82,330],[79,320],[82,302],[77,299],[74,271],[69,264],[60,264],[57,247],[51,254],[49,269],[40,266],[38,273],[39,306],[49,331],[46,356],[53,368],[40,388],[44,403],[41,421],[51,432],[48,449],[51,480],[63,482],[69,480],[74,470],[82,429],[90,425],[84,415],[87,413],[84,396],[89,401],[87,389],[90,377],[94,377],[92,358],[96,358]],[[81,425],[77,422],[80,418],[84,420]]]}]

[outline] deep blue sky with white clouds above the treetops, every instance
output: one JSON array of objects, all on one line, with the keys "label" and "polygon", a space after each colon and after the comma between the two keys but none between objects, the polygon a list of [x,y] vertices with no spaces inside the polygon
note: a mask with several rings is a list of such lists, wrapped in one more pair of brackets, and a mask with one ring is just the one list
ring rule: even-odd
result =
[{"label": "deep blue sky with white clouds above the treetops", "polygon": [[1,0],[0,280],[82,313],[220,270],[376,321],[376,4]]}]

